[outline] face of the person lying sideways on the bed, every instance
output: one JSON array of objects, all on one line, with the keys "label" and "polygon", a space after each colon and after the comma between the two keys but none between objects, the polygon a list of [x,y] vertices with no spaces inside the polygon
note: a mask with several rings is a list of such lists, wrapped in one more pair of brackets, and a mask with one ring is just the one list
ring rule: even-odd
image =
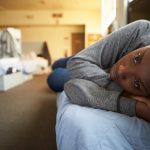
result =
[{"label": "face of the person lying sideways on the bed", "polygon": [[122,57],[110,71],[111,79],[125,91],[142,96],[150,95],[150,46]]}]

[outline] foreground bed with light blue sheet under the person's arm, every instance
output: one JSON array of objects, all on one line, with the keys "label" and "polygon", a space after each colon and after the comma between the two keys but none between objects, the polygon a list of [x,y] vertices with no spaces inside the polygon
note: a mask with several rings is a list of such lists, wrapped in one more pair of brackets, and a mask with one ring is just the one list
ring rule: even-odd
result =
[{"label": "foreground bed with light blue sheet under the person's arm", "polygon": [[71,104],[57,96],[58,150],[150,150],[150,123],[137,117]]}]

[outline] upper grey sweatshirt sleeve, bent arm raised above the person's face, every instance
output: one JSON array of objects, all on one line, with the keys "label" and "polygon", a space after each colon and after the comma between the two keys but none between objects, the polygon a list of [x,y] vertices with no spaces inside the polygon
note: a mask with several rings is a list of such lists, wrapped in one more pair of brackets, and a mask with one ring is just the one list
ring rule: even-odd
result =
[{"label": "upper grey sweatshirt sleeve, bent arm raised above the person's face", "polygon": [[67,63],[71,76],[105,87],[110,78],[104,70],[109,70],[124,54],[140,47],[139,38],[143,37],[145,32],[150,34],[149,30],[149,21],[135,21],[82,50]]}]

